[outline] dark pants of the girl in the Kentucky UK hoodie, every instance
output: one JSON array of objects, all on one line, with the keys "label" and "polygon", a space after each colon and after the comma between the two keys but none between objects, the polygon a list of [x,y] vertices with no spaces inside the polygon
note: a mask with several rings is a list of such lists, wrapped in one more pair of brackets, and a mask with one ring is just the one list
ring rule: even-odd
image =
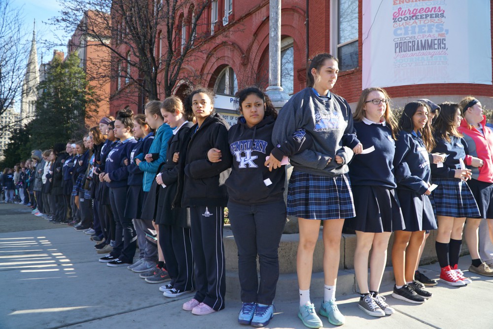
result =
[{"label": "dark pants of the girl in the Kentucky UK hoodie", "polygon": [[238,246],[241,299],[245,303],[271,305],[279,279],[278,249],[286,223],[286,204],[284,200],[250,205],[230,201],[228,210],[231,229]]}]

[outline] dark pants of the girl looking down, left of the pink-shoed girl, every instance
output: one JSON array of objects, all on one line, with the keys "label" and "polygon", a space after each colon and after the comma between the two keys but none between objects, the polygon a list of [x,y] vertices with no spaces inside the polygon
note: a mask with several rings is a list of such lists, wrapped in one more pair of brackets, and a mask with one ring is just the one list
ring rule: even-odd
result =
[{"label": "dark pants of the girl looking down, left of the pink-shoed girl", "polygon": [[189,228],[159,224],[159,245],[173,288],[193,290],[193,255]]}]

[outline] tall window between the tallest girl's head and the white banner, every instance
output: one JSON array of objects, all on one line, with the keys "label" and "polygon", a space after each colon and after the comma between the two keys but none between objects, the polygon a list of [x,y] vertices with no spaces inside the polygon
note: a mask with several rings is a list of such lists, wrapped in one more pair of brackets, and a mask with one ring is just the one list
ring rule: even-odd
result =
[{"label": "tall window between the tallest girl's head and the white banner", "polygon": [[358,66],[358,0],[334,0],[331,9],[337,24],[332,52],[339,59],[340,71],[352,70]]}]

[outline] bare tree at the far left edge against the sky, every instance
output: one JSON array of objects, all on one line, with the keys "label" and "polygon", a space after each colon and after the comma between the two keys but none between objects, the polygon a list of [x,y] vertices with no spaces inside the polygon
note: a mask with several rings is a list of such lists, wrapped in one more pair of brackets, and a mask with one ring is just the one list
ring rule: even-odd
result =
[{"label": "bare tree at the far left edge against the sky", "polygon": [[0,1],[0,136],[21,124],[21,117],[11,112],[21,97],[26,72],[28,48],[22,25],[20,9],[10,0]]}]

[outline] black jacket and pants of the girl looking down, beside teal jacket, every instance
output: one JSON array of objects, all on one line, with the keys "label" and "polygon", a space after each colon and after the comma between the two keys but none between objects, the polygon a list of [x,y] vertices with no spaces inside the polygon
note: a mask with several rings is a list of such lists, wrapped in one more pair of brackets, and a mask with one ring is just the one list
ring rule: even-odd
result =
[{"label": "black jacket and pants of the girl looking down, beside teal jacket", "polygon": [[186,121],[173,130],[173,136],[168,141],[166,163],[159,170],[166,187],[156,184],[158,199],[155,203],[155,222],[159,225],[159,245],[163,251],[166,270],[171,277],[170,284],[182,292],[195,288],[194,268],[190,211],[188,208],[172,207],[178,180],[178,166],[173,162],[173,155],[180,151],[180,146],[192,126],[193,123]]}]

